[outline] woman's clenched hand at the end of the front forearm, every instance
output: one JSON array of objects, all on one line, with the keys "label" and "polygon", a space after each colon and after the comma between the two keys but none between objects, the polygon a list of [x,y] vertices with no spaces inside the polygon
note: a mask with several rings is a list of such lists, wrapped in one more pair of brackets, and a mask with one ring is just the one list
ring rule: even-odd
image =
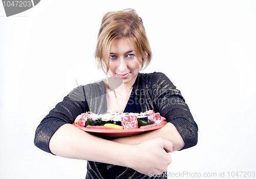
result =
[{"label": "woman's clenched hand at the end of the front forearm", "polygon": [[[162,139],[154,138],[146,140],[136,147],[134,156],[132,158],[131,168],[140,173],[150,175],[150,173],[162,173],[172,163],[172,157],[168,152],[173,152],[173,143]],[[134,160],[135,159],[135,160]]]}]

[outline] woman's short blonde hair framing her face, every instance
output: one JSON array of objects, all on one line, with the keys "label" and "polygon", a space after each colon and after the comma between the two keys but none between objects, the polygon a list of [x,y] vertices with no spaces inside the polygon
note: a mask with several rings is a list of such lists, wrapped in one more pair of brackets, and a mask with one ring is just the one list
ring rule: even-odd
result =
[{"label": "woman's short blonde hair framing her face", "polygon": [[135,47],[135,53],[142,56],[138,59],[141,69],[150,64],[152,52],[142,19],[133,9],[108,12],[101,21],[98,42],[95,50],[97,67],[105,72],[109,71],[110,47],[112,42],[121,37],[127,37]]}]

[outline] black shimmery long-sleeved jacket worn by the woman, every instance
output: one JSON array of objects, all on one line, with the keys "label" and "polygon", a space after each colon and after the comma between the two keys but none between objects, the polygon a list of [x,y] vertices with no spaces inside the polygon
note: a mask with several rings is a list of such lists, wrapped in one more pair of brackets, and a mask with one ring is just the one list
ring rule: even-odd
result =
[{"label": "black shimmery long-sleeved jacket worn by the woman", "polygon": [[[35,132],[35,145],[51,153],[50,138],[61,125],[73,123],[79,114],[87,111],[96,114],[105,113],[107,110],[105,93],[103,81],[75,88],[42,119]],[[135,105],[131,106],[130,100],[134,100]],[[165,117],[168,122],[173,123],[183,138],[185,144],[183,149],[197,144],[198,126],[180,91],[165,74],[139,73],[129,101],[125,112],[140,113],[154,110]],[[164,175],[148,177],[131,168],[92,161],[88,161],[87,168],[87,178],[166,178]]]}]

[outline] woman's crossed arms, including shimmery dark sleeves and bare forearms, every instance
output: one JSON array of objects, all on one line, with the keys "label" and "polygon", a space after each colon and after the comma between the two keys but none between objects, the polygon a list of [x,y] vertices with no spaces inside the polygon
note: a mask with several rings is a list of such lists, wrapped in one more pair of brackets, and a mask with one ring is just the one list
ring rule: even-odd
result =
[{"label": "woman's crossed arms, including shimmery dark sleeves and bare forearms", "polygon": [[[170,83],[166,78],[165,80],[155,79],[159,79],[159,83],[165,82],[161,83],[163,86]],[[158,81],[154,84],[159,84]],[[170,89],[175,89],[175,87],[170,87]],[[149,171],[162,173],[172,162],[172,157],[168,152],[196,145],[198,129],[177,90],[161,94],[157,96],[172,102],[171,108],[159,107],[162,115],[169,121],[165,126],[136,136],[105,140],[81,131],[71,124],[74,122],[74,116],[88,110],[88,105],[84,102],[86,101],[84,89],[78,87],[40,123],[35,144],[61,157],[125,166],[144,174],[148,174]],[[177,103],[174,103],[175,101]],[[159,110],[160,114],[161,111]],[[59,124],[62,125],[56,131]],[[52,126],[52,129],[48,129],[49,126]],[[52,135],[49,131],[55,133]]]}]

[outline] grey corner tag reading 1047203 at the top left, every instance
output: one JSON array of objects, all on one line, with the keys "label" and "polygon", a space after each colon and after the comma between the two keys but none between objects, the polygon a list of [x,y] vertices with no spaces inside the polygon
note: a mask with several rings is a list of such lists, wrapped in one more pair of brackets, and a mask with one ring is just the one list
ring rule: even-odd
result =
[{"label": "grey corner tag reading 1047203 at the top left", "polygon": [[2,0],[7,17],[27,11],[36,6],[40,0],[11,1]]}]

